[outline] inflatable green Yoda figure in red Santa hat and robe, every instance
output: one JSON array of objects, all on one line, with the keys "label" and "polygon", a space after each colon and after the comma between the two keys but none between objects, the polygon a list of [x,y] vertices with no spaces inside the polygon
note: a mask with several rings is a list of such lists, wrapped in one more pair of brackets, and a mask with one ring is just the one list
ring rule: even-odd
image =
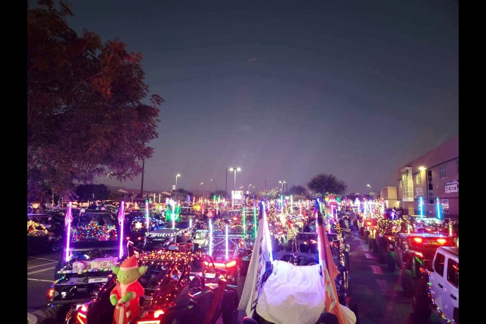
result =
[{"label": "inflatable green Yoda figure in red Santa hat and robe", "polygon": [[119,267],[113,267],[118,281],[110,294],[111,305],[115,306],[113,323],[127,324],[140,316],[139,297],[145,290],[137,279],[146,271],[147,267],[138,267],[135,256],[121,262]]}]

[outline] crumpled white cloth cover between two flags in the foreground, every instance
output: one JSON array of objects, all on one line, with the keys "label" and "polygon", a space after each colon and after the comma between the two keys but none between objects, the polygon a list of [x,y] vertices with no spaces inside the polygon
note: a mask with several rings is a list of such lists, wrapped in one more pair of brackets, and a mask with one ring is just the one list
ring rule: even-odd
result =
[{"label": "crumpled white cloth cover between two flags in the foreground", "polygon": [[[275,324],[315,324],[325,309],[324,285],[320,266],[295,266],[273,261],[273,271],[258,298],[257,313]],[[356,316],[341,305],[346,324]]]}]

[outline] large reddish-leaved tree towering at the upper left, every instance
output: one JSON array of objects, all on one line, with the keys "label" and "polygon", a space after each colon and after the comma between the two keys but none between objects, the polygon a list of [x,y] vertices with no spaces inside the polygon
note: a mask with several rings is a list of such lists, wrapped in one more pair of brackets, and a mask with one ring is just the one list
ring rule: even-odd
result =
[{"label": "large reddish-leaved tree towering at the upper left", "polygon": [[140,53],[119,39],[102,44],[92,31],[78,35],[66,16],[73,14],[62,1],[27,7],[27,174],[59,194],[76,180],[137,176],[152,155],[146,144],[158,137],[164,102],[158,95],[143,102],[149,89]]}]

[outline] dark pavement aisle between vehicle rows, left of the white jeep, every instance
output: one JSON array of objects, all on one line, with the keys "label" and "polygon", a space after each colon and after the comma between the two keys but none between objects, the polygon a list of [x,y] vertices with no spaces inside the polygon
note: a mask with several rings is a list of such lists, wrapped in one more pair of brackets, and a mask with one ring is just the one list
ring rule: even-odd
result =
[{"label": "dark pavement aisle between vehicle rows, left of the white jeep", "polygon": [[349,252],[349,286],[358,304],[359,324],[438,324],[438,318],[419,322],[413,315],[412,298],[404,297],[400,271],[387,272],[378,255],[369,251],[365,240],[353,233],[347,240]]}]

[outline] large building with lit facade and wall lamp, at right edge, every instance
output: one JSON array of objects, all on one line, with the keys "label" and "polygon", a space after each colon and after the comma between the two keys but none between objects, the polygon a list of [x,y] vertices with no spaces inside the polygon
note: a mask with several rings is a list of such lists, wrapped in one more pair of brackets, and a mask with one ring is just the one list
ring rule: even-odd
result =
[{"label": "large building with lit facade and wall lamp, at right edge", "polygon": [[459,217],[458,136],[399,168],[397,174],[398,200],[405,213],[437,217],[439,211],[442,219]]}]

